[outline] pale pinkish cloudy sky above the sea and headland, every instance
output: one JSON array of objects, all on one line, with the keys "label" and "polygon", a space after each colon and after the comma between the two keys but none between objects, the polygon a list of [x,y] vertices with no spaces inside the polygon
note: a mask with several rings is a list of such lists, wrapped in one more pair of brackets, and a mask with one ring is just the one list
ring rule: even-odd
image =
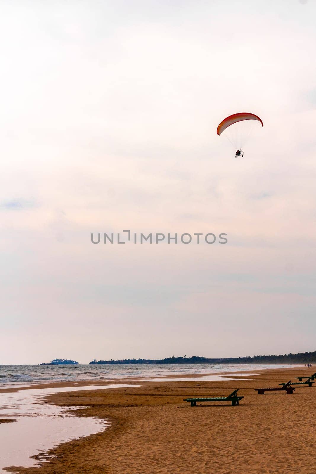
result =
[{"label": "pale pinkish cloudy sky above the sea and headland", "polygon": [[314,351],[316,2],[0,10],[0,364]]}]

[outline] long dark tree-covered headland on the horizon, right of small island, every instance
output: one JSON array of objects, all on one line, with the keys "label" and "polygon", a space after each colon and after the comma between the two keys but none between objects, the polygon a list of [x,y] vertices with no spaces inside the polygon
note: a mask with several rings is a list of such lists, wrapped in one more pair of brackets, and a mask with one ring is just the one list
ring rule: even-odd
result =
[{"label": "long dark tree-covered headland on the horizon, right of small island", "polygon": [[122,359],[92,360],[90,364],[128,365],[128,364],[307,364],[316,363],[316,351],[285,354],[284,356],[246,356],[207,358],[201,356],[166,357],[165,359]]}]

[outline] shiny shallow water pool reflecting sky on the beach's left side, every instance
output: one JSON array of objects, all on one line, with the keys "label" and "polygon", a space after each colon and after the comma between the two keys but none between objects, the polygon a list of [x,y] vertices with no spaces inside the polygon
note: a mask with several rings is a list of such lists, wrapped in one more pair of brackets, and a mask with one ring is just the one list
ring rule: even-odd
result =
[{"label": "shiny shallow water pool reflecting sky on the beach's left side", "polygon": [[[93,385],[89,390],[131,387],[133,385]],[[139,385],[134,385],[135,387]],[[13,426],[0,429],[0,473],[11,465],[31,467],[49,460],[48,450],[72,439],[103,431],[108,421],[96,417],[75,416],[78,407],[58,406],[45,402],[53,393],[87,390],[86,387],[54,387],[0,392],[1,419]],[[6,417],[6,418],[4,418]],[[1,422],[0,419],[0,422]],[[31,434],[31,436],[30,436]],[[30,457],[30,453],[32,456]]]}]

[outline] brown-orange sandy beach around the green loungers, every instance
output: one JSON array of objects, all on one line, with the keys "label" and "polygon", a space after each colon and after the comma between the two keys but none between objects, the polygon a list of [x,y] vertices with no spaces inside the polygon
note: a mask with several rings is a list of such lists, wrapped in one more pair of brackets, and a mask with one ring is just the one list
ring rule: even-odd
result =
[{"label": "brown-orange sandy beach around the green loungers", "polygon": [[[49,403],[86,407],[80,410],[80,416],[109,419],[111,425],[105,431],[52,449],[49,454],[57,457],[41,467],[12,471],[29,474],[288,474],[294,470],[313,473],[316,388],[298,387],[293,395],[283,392],[258,395],[253,389],[277,387],[280,382],[294,381],[298,375],[314,373],[314,368],[296,366],[249,372],[260,375],[241,377],[236,373],[236,378],[244,379],[236,382],[225,379],[193,382],[189,378],[168,382],[166,377],[163,382],[141,382],[141,387],[49,395]],[[227,376],[233,377],[232,374]],[[246,380],[249,378],[252,380]],[[136,380],[139,383],[140,378],[130,382]],[[126,379],[121,382],[126,383]],[[190,407],[190,403],[183,401],[190,396],[226,395],[235,388],[240,388],[238,395],[244,396],[239,406],[218,402]]]}]

